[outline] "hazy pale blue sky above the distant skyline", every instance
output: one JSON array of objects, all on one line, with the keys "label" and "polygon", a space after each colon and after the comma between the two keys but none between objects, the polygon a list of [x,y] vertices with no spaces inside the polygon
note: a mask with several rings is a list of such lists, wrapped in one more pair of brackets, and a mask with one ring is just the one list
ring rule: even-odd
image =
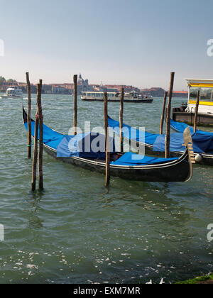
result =
[{"label": "hazy pale blue sky above the distant skyline", "polygon": [[212,0],[0,0],[0,75],[175,89],[213,78]]}]

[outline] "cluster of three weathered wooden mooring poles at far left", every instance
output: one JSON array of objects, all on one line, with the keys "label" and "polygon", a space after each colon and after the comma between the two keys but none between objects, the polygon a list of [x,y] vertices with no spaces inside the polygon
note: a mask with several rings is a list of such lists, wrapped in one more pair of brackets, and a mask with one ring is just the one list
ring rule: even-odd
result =
[{"label": "cluster of three weathered wooden mooring poles at far left", "polygon": [[[31,158],[32,137],[31,137],[31,82],[29,74],[26,72],[26,82],[28,87],[28,158]],[[34,127],[34,150],[33,150],[33,166],[32,166],[32,181],[31,190],[34,192],[36,187],[36,170],[38,162],[38,189],[43,190],[43,115],[41,106],[41,91],[42,79],[37,84],[37,111],[35,114],[35,127]],[[39,133],[39,136],[38,136]],[[38,139],[39,139],[39,152],[38,152]]]}]

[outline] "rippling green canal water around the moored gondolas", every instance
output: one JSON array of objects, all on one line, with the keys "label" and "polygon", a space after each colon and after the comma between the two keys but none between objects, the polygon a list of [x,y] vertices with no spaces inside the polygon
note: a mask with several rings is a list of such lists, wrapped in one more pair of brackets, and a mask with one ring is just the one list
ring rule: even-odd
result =
[{"label": "rippling green canal water around the moored gondolas", "polygon": [[[0,283],[159,283],[213,271],[213,167],[195,166],[187,183],[112,177],[107,191],[104,175],[44,153],[45,190],[33,194],[21,104],[0,99]],[[158,133],[161,109],[162,99],[125,104],[124,121]],[[43,115],[67,133],[72,97],[43,96]],[[119,118],[119,104],[109,104],[109,115]],[[82,128],[84,121],[102,126],[103,104],[79,101]]]}]

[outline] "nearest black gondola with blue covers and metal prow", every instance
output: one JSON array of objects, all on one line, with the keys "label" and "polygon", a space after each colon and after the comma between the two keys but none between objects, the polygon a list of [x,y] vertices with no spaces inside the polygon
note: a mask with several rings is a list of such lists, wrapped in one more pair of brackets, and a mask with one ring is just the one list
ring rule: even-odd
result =
[{"label": "nearest black gondola with blue covers and metal prow", "polygon": [[[23,123],[28,129],[27,114],[23,109]],[[35,121],[31,121],[32,136],[34,137]],[[38,134],[39,136],[39,134]],[[101,135],[100,135],[101,136]],[[89,136],[91,137],[91,136]],[[103,136],[104,137],[104,136]],[[65,136],[43,125],[43,146],[45,152],[53,158],[84,169],[105,173],[105,153],[94,153],[92,150],[84,152],[70,150],[69,144],[72,138],[82,142],[86,135]],[[104,138],[105,143],[105,138]],[[114,149],[111,152],[110,172],[111,176],[125,180],[144,182],[186,182],[192,178],[192,160],[190,158],[190,133],[185,132],[185,144],[187,149],[180,158],[151,158],[148,156],[140,159],[136,153],[118,153]],[[73,145],[73,142],[72,142]],[[114,146],[113,146],[114,147]]]}]

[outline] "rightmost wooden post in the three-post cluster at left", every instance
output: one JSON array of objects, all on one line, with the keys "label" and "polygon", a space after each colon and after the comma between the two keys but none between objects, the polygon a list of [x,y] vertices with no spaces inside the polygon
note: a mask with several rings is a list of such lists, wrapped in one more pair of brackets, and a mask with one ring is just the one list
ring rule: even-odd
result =
[{"label": "rightmost wooden post in the three-post cluster at left", "polygon": [[43,190],[43,114],[41,106],[41,91],[42,91],[42,79],[40,79],[38,88],[38,123],[39,123],[39,155],[38,155],[38,189]]}]

